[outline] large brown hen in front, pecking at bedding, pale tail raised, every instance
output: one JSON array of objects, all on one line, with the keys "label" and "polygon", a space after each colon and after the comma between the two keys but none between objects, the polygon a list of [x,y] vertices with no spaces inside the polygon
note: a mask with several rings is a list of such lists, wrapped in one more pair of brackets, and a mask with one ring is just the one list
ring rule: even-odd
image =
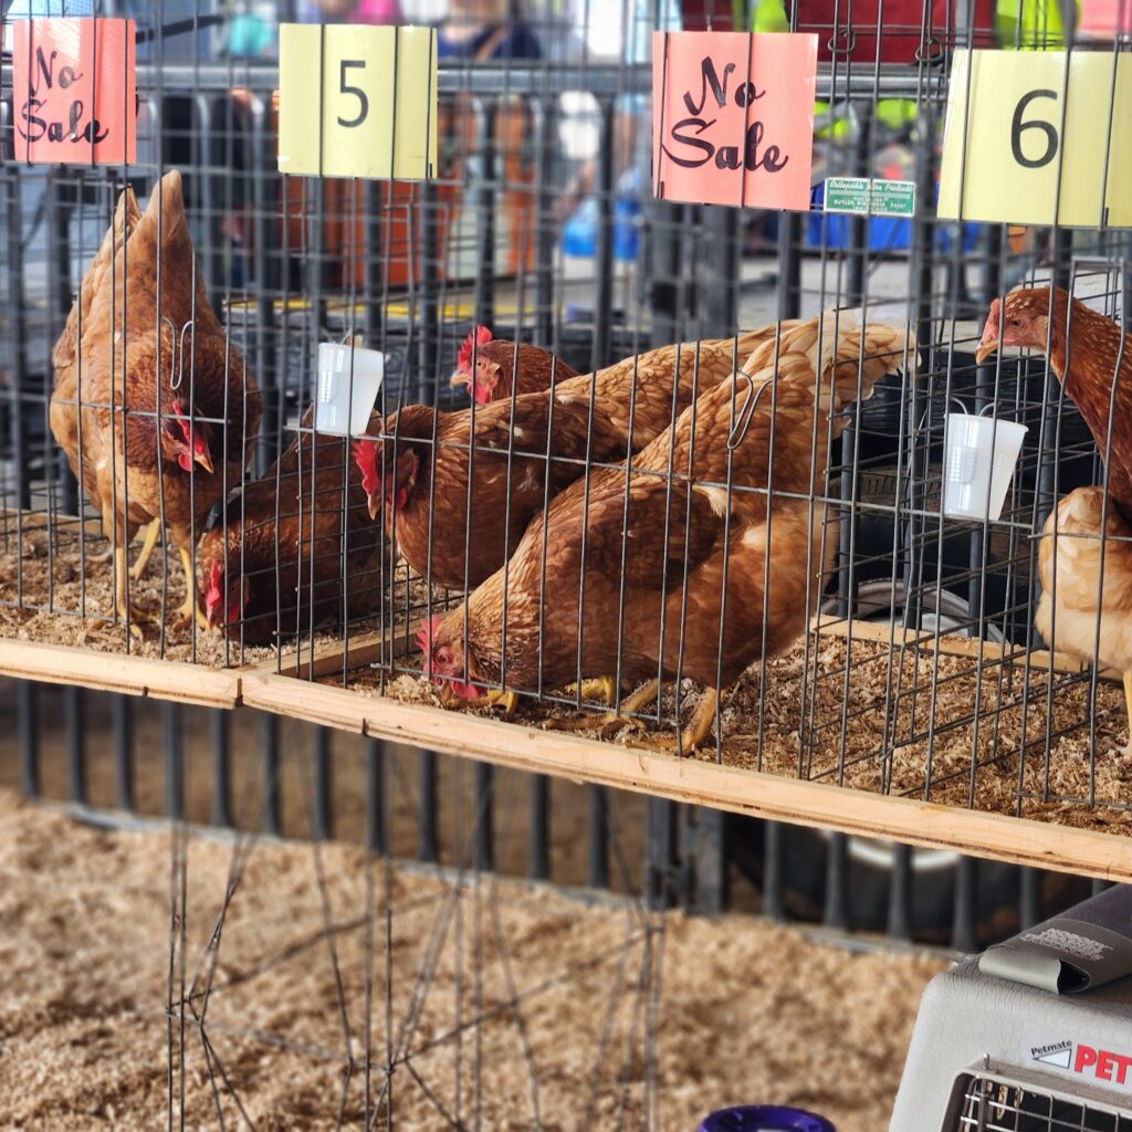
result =
[{"label": "large brown hen in front, pecking at bedding, pale tail raised", "polygon": [[[817,607],[835,526],[807,497],[824,486],[841,410],[910,360],[904,332],[869,325],[863,334],[842,316],[834,368],[832,316],[822,336],[820,360],[816,319],[786,329],[777,367],[769,338],[743,375],[702,394],[631,469],[603,469],[559,495],[506,571],[469,597],[466,646],[464,607],[422,631],[426,671],[462,697],[504,679],[526,691],[609,672],[650,680],[625,710],[655,698],[658,674],[691,677],[707,694],[679,741],[702,743],[719,691],[789,648]],[[580,726],[615,722],[624,720]]]}]

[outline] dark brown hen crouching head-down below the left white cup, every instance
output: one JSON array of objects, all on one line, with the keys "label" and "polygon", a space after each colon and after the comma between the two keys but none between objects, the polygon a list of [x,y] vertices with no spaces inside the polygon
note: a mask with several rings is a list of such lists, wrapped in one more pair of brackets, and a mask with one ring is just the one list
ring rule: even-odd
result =
[{"label": "dark brown hen crouching head-down below the left white cup", "polygon": [[341,623],[343,612],[368,616],[380,598],[380,531],[361,473],[345,439],[314,432],[314,419],[311,406],[280,458],[228,499],[197,550],[208,624],[246,644]]}]

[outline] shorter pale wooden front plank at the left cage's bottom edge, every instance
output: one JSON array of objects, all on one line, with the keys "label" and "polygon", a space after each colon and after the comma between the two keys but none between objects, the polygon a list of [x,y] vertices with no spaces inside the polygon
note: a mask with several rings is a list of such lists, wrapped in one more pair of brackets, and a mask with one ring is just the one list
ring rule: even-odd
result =
[{"label": "shorter pale wooden front plank at the left cage's bottom edge", "polygon": [[0,640],[0,674],[208,707],[234,707],[240,702],[237,669],[94,652],[36,641]]}]

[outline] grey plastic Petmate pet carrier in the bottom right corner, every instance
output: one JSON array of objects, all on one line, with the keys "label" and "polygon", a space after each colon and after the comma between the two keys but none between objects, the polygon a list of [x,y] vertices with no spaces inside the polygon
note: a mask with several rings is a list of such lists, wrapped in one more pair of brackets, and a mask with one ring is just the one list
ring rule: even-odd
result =
[{"label": "grey plastic Petmate pet carrier in the bottom right corner", "polygon": [[1121,887],[937,976],[892,1132],[1132,1132],[1130,971]]}]

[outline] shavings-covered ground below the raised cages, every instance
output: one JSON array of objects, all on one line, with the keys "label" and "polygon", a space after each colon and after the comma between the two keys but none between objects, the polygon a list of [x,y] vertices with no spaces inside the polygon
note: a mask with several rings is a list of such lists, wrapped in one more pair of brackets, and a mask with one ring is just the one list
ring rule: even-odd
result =
[{"label": "shavings-covered ground below the raised cages", "polygon": [[2,1126],[154,1127],[170,1089],[189,1126],[216,1126],[217,1104],[230,1127],[241,1107],[260,1129],[331,1127],[340,1106],[357,1125],[369,969],[371,1104],[393,1048],[402,1129],[477,1112],[490,1129],[535,1113],[548,1130],[640,1127],[654,1104],[653,1126],[685,1132],[722,1104],[781,1101],[875,1132],[942,969],[473,874],[377,864],[367,903],[357,849],[199,839],[171,957],[172,850],[166,832],[104,832],[0,791]]}]

